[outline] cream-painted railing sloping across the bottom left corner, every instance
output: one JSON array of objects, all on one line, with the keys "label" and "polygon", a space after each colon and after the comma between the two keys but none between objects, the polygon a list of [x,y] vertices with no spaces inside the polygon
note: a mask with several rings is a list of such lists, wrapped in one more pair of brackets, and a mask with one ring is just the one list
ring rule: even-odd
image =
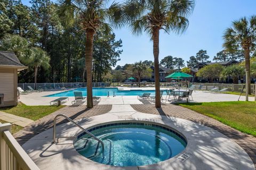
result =
[{"label": "cream-painted railing sloping across the bottom left corner", "polygon": [[39,169],[11,134],[11,124],[0,124],[1,170]]}]

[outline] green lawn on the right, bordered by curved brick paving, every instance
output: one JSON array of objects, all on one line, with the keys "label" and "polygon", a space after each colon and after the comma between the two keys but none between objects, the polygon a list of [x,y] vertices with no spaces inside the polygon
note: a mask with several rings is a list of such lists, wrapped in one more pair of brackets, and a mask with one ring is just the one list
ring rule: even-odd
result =
[{"label": "green lawn on the right, bordered by curved brick paving", "polygon": [[241,132],[256,137],[256,102],[254,101],[182,103],[178,105],[213,117]]}]

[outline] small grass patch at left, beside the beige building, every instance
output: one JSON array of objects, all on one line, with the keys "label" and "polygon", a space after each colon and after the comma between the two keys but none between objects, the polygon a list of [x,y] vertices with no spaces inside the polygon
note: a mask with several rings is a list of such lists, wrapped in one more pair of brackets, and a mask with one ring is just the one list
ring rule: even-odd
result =
[{"label": "small grass patch at left, beside the beige building", "polygon": [[0,111],[20,117],[26,117],[33,121],[36,121],[39,118],[49,115],[50,113],[53,113],[62,107],[65,106],[27,106],[25,104],[22,104],[20,107],[15,106],[0,108]]}]

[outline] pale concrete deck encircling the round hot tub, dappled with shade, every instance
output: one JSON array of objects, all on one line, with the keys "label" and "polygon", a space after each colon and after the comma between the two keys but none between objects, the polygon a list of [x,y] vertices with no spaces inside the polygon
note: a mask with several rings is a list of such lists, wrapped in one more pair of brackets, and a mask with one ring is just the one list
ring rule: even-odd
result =
[{"label": "pale concrete deck encircling the round hot tub, dappled with shade", "polygon": [[[180,106],[175,107],[180,108]],[[173,112],[179,113],[179,109]],[[130,105],[113,105],[108,113],[84,117],[78,119],[77,123],[83,128],[89,128],[113,121],[146,121],[163,124],[185,135],[188,146],[181,154],[164,162],[135,167],[113,167],[92,162],[78,154],[72,139],[61,139],[58,144],[52,145],[52,129],[35,135],[22,145],[22,148],[40,169],[255,169],[244,149],[226,135],[181,118],[141,113]],[[79,132],[81,130],[71,123],[57,126],[57,136],[72,137]],[[189,157],[182,162],[179,157],[183,154],[189,154]]]}]

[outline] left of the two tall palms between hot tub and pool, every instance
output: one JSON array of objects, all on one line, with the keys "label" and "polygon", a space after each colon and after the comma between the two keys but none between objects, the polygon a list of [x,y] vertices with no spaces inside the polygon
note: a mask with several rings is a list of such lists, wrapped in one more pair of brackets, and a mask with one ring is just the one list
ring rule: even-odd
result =
[{"label": "left of the two tall palms between hot tub and pool", "polygon": [[[58,8],[59,18],[71,25],[79,22],[86,33],[85,67],[87,79],[87,108],[93,107],[92,101],[92,55],[93,37],[97,30],[112,31],[111,25],[122,25],[122,9],[118,3],[106,7],[107,0],[60,0]],[[108,23],[106,22],[108,21]],[[109,24],[110,23],[110,24]]]}]

